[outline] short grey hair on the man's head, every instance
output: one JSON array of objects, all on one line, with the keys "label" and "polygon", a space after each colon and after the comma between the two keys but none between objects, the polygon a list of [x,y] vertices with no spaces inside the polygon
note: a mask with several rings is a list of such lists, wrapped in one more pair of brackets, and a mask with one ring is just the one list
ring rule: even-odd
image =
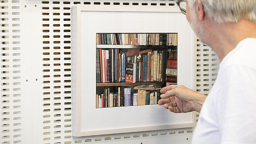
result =
[{"label": "short grey hair on the man's head", "polygon": [[[189,7],[197,0],[188,0]],[[255,20],[256,0],[201,0],[206,15],[217,23],[237,22],[240,19]]]}]

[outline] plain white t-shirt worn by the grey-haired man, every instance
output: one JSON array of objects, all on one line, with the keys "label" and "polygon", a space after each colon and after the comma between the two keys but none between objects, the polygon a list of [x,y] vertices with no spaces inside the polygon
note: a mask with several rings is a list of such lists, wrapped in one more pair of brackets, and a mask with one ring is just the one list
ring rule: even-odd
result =
[{"label": "plain white t-shirt worn by the grey-haired man", "polygon": [[240,41],[221,61],[192,144],[256,144],[256,39]]}]

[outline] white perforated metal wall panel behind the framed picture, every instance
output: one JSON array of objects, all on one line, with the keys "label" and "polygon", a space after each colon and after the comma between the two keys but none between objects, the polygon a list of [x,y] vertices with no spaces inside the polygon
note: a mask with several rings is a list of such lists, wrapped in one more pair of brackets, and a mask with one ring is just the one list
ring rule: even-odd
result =
[{"label": "white perforated metal wall panel behind the framed picture", "polygon": [[[1,143],[190,143],[193,128],[71,136],[71,8],[76,4],[177,7],[175,0],[0,0]],[[219,61],[196,36],[194,47],[196,90],[208,94]]]}]

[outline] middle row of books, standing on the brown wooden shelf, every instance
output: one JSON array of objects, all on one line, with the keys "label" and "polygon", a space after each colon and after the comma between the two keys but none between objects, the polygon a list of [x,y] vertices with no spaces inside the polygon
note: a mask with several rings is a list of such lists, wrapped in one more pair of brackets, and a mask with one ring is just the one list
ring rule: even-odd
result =
[{"label": "middle row of books, standing on the brown wooden shelf", "polygon": [[96,49],[96,83],[162,81],[163,50]]}]

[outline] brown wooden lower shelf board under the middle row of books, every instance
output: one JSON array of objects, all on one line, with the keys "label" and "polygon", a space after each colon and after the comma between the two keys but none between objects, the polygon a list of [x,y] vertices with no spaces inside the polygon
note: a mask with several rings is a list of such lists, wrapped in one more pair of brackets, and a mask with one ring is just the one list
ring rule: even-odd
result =
[{"label": "brown wooden lower shelf board under the middle row of books", "polygon": [[137,85],[161,85],[162,81],[143,81],[136,83],[96,83],[96,87],[110,87],[110,86],[137,86]]}]

